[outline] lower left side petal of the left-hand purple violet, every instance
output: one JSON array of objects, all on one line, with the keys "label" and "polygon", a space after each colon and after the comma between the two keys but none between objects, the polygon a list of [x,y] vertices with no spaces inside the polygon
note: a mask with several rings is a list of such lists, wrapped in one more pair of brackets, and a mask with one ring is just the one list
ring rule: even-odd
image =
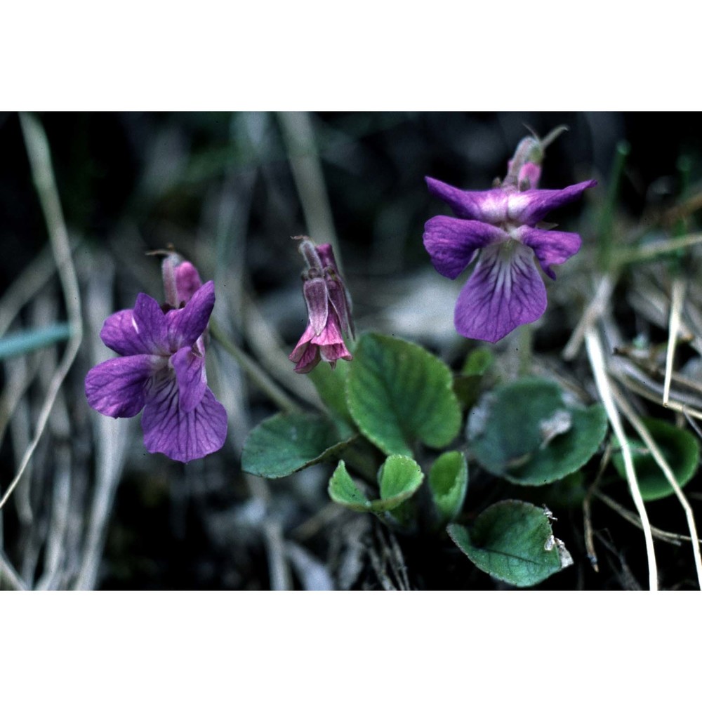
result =
[{"label": "lower left side petal of the left-hand purple violet", "polygon": [[154,355],[112,358],[88,371],[88,404],[109,417],[133,417],[143,408],[153,376],[166,359]]}]

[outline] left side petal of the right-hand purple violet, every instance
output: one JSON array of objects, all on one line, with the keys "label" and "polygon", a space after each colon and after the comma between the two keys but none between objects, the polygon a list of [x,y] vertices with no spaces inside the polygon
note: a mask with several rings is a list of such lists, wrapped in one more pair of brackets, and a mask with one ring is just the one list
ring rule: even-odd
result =
[{"label": "left side petal of the right-hand purple violet", "polygon": [[438,215],[424,225],[424,248],[436,270],[452,280],[471,262],[478,249],[508,239],[499,227]]}]

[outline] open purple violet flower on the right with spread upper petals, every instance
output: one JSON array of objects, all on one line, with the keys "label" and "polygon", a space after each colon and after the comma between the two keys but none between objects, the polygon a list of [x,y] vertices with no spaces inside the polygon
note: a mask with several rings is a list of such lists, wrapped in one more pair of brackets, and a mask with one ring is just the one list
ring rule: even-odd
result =
[{"label": "open purple violet flower on the right with spread upper petals", "polygon": [[597,181],[538,190],[541,166],[531,159],[541,159],[540,146],[534,138],[523,139],[504,182],[492,190],[459,190],[426,178],[429,192],[456,214],[432,217],[425,225],[424,246],[436,270],[455,279],[480,252],[454,312],[456,331],[468,338],[495,342],[541,317],[546,289],[534,255],[543,272],[555,279],[551,266],[580,249],[578,234],[540,229],[537,224]]}]

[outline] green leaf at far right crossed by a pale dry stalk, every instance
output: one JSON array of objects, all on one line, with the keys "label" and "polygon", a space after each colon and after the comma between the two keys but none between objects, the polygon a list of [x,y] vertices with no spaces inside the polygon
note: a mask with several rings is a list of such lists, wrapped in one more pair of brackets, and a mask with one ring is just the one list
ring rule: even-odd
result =
[{"label": "green leaf at far right crossed by a pale dry stalk", "polygon": [[[677,484],[686,485],[695,475],[700,461],[700,449],[697,439],[690,432],[678,429],[672,424],[660,419],[642,419],[644,426],[651,433],[658,448],[661,449],[665,461],[670,465]],[[663,475],[663,471],[651,456],[646,444],[631,440],[629,446],[634,459],[634,470],[641,496],[645,501],[660,500],[672,495],[675,491]],[[621,477],[626,477],[624,459],[621,453],[613,457],[614,467]]]}]

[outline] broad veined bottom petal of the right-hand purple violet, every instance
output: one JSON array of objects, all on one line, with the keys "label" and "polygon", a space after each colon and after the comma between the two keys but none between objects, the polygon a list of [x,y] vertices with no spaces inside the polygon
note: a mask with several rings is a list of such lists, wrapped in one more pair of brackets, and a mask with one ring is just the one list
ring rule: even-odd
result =
[{"label": "broad veined bottom petal of the right-hand purple violet", "polygon": [[546,290],[534,253],[518,241],[490,246],[458,296],[456,331],[470,339],[495,342],[520,324],[534,322],[546,309]]}]

